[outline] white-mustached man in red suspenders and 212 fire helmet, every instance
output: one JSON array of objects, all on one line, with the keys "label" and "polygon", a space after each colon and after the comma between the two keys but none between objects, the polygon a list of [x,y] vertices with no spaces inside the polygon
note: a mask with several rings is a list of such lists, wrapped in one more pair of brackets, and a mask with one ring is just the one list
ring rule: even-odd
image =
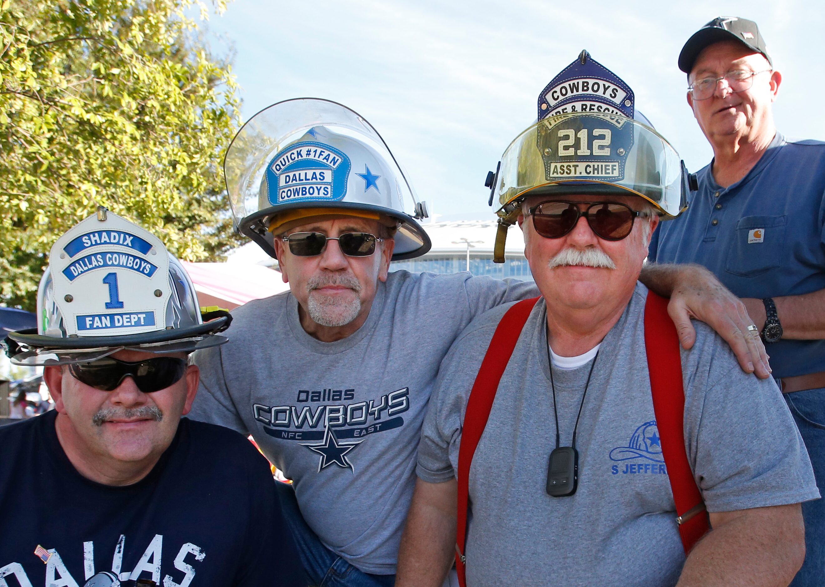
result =
[{"label": "white-mustached man in red suspenders and 212 fire helmet", "polygon": [[491,183],[542,298],[478,317],[441,364],[397,585],[437,587],[454,557],[462,587],[794,576],[818,491],[779,390],[705,325],[680,352],[638,280],[687,182],[587,52],[541,92]]}]

